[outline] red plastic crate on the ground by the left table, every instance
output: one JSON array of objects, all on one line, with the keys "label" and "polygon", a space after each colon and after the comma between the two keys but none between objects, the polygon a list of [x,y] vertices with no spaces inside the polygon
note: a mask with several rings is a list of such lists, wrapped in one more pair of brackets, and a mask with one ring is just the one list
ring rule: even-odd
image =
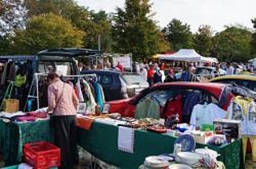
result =
[{"label": "red plastic crate on the ground by the left table", "polygon": [[47,169],[61,165],[61,150],[48,142],[26,143],[23,146],[26,163],[35,169]]}]

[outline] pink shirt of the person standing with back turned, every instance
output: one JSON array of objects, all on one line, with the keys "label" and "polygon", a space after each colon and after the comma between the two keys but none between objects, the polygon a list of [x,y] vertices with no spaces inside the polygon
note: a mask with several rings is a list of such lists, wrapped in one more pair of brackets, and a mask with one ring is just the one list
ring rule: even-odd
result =
[{"label": "pink shirt of the person standing with back turned", "polygon": [[54,109],[53,116],[76,115],[74,104],[78,104],[78,97],[70,85],[59,80],[48,87],[48,107]]}]

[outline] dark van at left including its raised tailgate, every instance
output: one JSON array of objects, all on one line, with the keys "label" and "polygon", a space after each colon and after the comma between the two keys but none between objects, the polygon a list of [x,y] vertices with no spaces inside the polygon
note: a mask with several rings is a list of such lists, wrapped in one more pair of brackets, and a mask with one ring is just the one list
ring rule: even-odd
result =
[{"label": "dark van at left including its raised tailgate", "polygon": [[[2,85],[0,87],[0,104],[5,96],[9,81],[15,81],[18,69],[24,69],[26,72],[26,84],[22,85],[22,93],[14,94],[12,98],[20,100],[20,107],[26,104],[26,99],[30,91],[34,73],[49,73],[50,71],[61,71],[66,75],[77,75],[78,67],[75,59],[79,57],[90,57],[99,54],[98,50],[93,49],[46,49],[38,52],[34,56],[0,56],[0,62],[5,67],[5,76],[0,77]],[[16,89],[16,88],[15,88]],[[35,88],[33,89],[35,91]],[[38,96],[40,107],[47,106],[47,83],[44,78],[38,81]],[[32,93],[30,93],[32,94]],[[35,94],[33,94],[35,95]],[[33,105],[34,106],[34,105]]]}]

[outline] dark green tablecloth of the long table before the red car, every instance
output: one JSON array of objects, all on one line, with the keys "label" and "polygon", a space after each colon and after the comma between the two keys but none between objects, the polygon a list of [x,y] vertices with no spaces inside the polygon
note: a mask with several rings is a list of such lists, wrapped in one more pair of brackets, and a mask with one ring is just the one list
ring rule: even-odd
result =
[{"label": "dark green tablecloth of the long table before the red car", "polygon": [[[118,151],[118,127],[94,123],[90,131],[79,128],[78,144],[98,159],[121,168],[138,168],[146,156],[161,155],[174,151],[175,138],[165,134],[136,130],[134,133],[134,154]],[[221,147],[210,146],[221,155],[218,160],[225,163],[226,168],[242,168],[241,140]],[[206,147],[197,144],[197,147]]]}]

